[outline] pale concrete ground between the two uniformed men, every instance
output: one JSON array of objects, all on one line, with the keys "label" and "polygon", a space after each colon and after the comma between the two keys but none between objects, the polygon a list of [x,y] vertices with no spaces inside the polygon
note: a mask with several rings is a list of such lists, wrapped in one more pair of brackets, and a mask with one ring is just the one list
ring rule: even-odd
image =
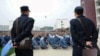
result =
[{"label": "pale concrete ground between the two uniformed men", "polygon": [[34,50],[34,56],[72,56],[72,48],[68,47],[67,49],[38,49]]}]

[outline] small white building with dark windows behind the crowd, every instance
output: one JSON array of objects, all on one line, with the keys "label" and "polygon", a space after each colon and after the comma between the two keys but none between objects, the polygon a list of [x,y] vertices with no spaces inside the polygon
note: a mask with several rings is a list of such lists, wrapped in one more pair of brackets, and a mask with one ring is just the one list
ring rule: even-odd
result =
[{"label": "small white building with dark windows behind the crowd", "polygon": [[69,20],[68,19],[57,19],[55,24],[55,29],[68,28]]}]

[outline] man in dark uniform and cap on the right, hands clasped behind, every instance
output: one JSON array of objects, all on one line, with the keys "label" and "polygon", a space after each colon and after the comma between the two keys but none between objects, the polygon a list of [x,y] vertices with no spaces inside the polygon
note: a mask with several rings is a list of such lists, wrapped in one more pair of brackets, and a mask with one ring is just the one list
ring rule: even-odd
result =
[{"label": "man in dark uniform and cap on the right, hands clasped behind", "polygon": [[[71,35],[73,39],[73,56],[82,56],[83,48],[89,49],[97,46],[97,29],[94,23],[83,15],[83,12],[83,7],[76,7],[74,11],[76,19],[70,21]],[[78,19],[84,24],[85,31]],[[88,37],[86,37],[86,34]]]}]

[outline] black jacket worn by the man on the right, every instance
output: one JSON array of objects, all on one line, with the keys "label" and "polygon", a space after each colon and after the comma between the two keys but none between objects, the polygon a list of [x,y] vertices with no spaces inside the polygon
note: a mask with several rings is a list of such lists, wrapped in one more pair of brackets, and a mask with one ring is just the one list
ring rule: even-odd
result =
[{"label": "black jacket worn by the man on the right", "polygon": [[86,41],[92,41],[93,44],[96,45],[98,32],[94,23],[85,16],[79,16],[77,18],[81,19],[85,25],[86,34],[89,36],[89,38],[85,36],[81,23],[77,19],[72,19],[70,21],[70,31],[74,45],[83,47],[86,45]]}]

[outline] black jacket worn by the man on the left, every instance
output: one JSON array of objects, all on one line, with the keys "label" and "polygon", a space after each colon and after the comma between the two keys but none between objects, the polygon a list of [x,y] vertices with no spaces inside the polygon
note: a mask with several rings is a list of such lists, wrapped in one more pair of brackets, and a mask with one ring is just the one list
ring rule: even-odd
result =
[{"label": "black jacket worn by the man on the left", "polygon": [[[16,21],[18,19],[18,34],[16,33]],[[12,41],[14,42],[20,42],[23,40],[25,37],[32,37],[32,28],[34,25],[34,19],[28,17],[25,14],[22,14],[20,17],[18,17],[14,23],[13,27],[11,29],[11,36],[12,36]]]}]

